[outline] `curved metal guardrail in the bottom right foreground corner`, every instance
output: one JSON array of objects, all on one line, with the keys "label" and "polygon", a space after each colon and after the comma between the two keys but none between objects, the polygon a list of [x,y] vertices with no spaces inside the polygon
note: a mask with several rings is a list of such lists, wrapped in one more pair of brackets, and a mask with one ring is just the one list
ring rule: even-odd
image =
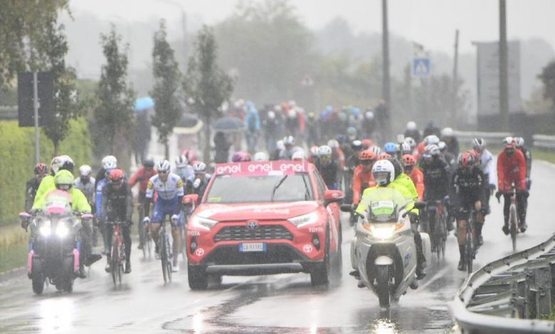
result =
[{"label": "curved metal guardrail in the bottom right foreground corner", "polygon": [[555,303],[555,235],[485,265],[467,277],[450,302],[462,333],[555,333],[540,320]]}]

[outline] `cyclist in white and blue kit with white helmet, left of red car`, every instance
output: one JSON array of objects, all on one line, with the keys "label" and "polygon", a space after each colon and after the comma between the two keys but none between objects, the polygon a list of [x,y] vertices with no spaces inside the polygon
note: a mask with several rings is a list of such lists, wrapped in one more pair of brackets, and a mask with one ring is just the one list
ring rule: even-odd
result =
[{"label": "cyclist in white and blue kit with white helmet, left of red car", "polygon": [[[169,161],[159,161],[157,163],[158,175],[152,176],[150,178],[147,186],[147,202],[154,198],[154,193],[157,193],[158,198],[154,204],[154,210],[152,212],[152,218],[148,215],[145,216],[144,222],[150,222],[150,232],[152,234],[152,239],[154,239],[154,244],[156,245],[154,252],[157,253],[159,257],[158,239],[160,224],[164,222],[166,215],[171,216],[171,235],[173,236],[173,254],[178,254],[181,246],[181,227],[183,227],[183,222],[181,221],[181,200],[183,199],[184,189],[183,182],[181,178],[174,174],[169,173]],[[150,205],[146,205],[148,214]],[[177,266],[177,256],[173,259],[174,269],[178,270]]]}]

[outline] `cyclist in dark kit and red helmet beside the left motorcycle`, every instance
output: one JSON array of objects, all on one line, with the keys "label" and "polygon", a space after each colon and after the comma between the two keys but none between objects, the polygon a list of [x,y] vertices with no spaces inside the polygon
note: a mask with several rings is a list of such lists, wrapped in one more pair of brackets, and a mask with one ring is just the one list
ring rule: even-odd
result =
[{"label": "cyclist in dark kit and red helmet beside the left motorcycle", "polygon": [[[107,244],[112,244],[112,224],[120,221],[123,243],[125,245],[125,274],[131,272],[131,225],[133,224],[133,195],[125,181],[125,173],[121,169],[112,169],[107,175],[107,184],[102,189],[102,217]],[[106,272],[110,272],[110,251],[106,253]]]}]

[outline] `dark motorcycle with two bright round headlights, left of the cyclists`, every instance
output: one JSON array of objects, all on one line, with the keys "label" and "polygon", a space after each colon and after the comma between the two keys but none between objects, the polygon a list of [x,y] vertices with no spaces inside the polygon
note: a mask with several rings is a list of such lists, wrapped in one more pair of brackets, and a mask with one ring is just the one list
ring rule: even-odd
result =
[{"label": "dark motorcycle with two bright round headlights, left of the cyclists", "polygon": [[58,291],[73,291],[73,280],[79,272],[81,220],[91,220],[93,215],[80,215],[71,208],[71,196],[55,190],[46,197],[43,210],[31,216],[21,212],[21,225],[31,227],[27,275],[33,292],[43,293],[46,280]]}]

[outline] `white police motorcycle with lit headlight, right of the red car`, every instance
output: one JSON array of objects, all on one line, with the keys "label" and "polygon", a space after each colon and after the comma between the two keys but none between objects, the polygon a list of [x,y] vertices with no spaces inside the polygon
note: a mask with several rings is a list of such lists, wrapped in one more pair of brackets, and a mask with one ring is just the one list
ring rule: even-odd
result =
[{"label": "white police motorcycle with lit headlight, right of the red car", "polygon": [[[414,204],[416,209],[424,207],[425,203]],[[351,243],[351,265],[357,271],[359,287],[374,291],[381,308],[398,301],[409,286],[417,289],[416,244],[408,215],[413,209],[400,208],[391,200],[373,201],[364,213],[354,211],[351,205],[342,205],[341,209],[359,217]],[[423,253],[429,262],[430,237],[423,232],[421,237]]]}]

